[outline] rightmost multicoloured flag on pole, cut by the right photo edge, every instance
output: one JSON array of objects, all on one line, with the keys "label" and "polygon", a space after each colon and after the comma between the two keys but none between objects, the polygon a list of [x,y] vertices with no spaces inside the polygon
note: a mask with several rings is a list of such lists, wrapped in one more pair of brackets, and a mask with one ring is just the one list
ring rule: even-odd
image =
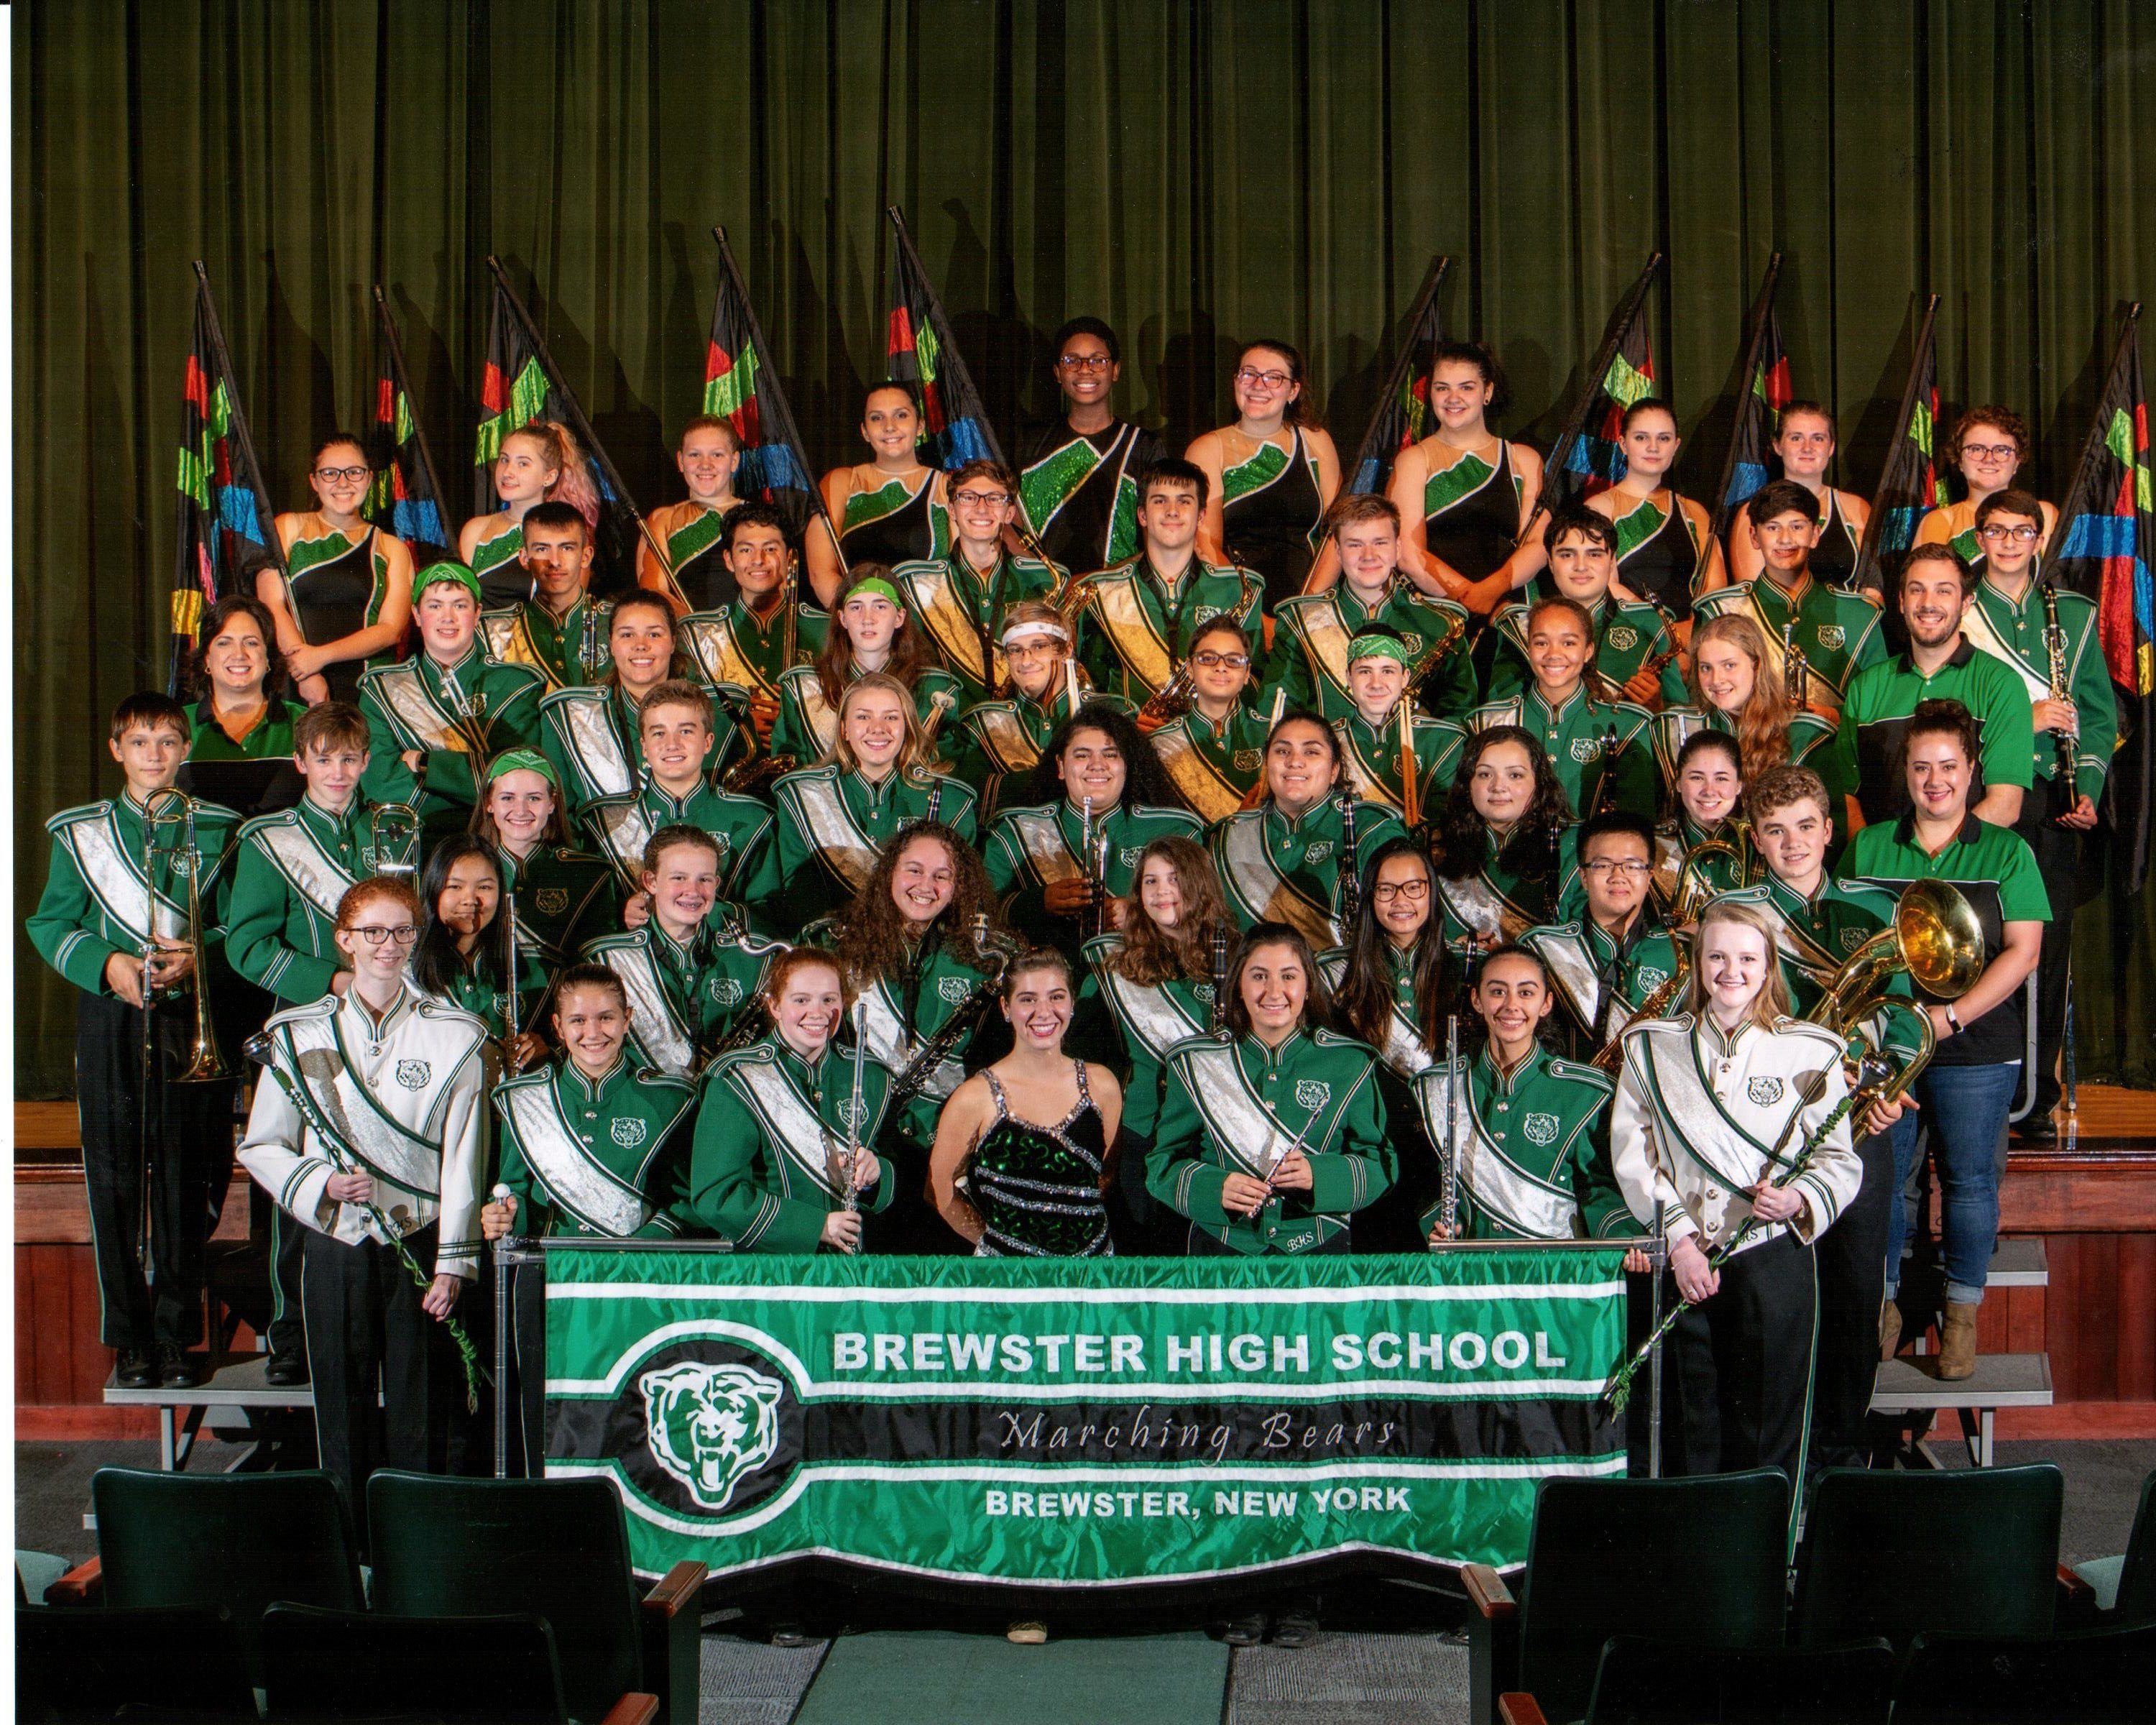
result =
[{"label": "rightmost multicoloured flag on pole, cut by the right photo edge", "polygon": [[2096,599],[2104,666],[2119,694],[2119,753],[2106,806],[2119,837],[2119,880],[2139,893],[2150,865],[2156,770],[2156,509],[2150,500],[2150,403],[2141,386],[2141,304],[2126,310],[2081,466],[2059,509],[2059,552],[2046,574]]}]

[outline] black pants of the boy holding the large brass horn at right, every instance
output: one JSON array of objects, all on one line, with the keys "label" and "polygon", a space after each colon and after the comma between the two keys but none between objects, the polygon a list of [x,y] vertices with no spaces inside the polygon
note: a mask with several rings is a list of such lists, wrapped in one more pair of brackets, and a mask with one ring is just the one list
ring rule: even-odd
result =
[{"label": "black pants of the boy holding the large brass horn at right", "polygon": [[1861,1468],[1871,1455],[1865,1414],[1880,1376],[1880,1307],[1893,1223],[1893,1136],[1856,1141],[1863,1184],[1811,1244],[1820,1270],[1820,1350],[1811,1391],[1811,1466]]}]

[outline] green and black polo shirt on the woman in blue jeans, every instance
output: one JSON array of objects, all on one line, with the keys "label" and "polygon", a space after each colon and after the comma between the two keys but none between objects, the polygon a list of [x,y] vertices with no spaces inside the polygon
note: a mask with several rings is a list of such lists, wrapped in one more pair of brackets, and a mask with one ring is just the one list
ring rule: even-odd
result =
[{"label": "green and black polo shirt on the woman in blue jeans", "polygon": [[[2022,757],[2027,759],[2027,757]],[[2035,867],[2029,841],[2007,826],[1992,826],[1968,815],[1936,856],[1917,843],[1912,815],[1867,826],[1835,865],[1835,880],[1880,886],[1893,895],[1912,880],[1951,880],[1975,908],[1984,925],[1984,962],[2005,951],[2007,923],[2048,923],[2050,897]],[[2027,1054],[2022,1026],[2022,992],[2014,990],[1977,1022],[1962,1022],[1962,1033],[1947,1037],[1932,1054],[1932,1065],[1996,1065]],[[1919,1000],[1936,994],[1917,990]]]}]

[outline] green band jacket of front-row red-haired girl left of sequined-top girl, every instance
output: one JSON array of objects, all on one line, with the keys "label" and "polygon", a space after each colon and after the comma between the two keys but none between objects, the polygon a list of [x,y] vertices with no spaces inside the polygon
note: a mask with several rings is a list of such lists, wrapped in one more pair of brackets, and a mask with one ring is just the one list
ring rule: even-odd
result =
[{"label": "green band jacket of front-row red-haired girl left of sequined-top girl", "polygon": [[[711,1063],[696,1106],[690,1210],[735,1251],[813,1253],[824,1218],[845,1205],[849,1147],[873,1145],[890,1100],[890,1067],[830,1046],[811,1065],[778,1035]],[[854,1208],[890,1208],[890,1169],[856,1195]]]}]

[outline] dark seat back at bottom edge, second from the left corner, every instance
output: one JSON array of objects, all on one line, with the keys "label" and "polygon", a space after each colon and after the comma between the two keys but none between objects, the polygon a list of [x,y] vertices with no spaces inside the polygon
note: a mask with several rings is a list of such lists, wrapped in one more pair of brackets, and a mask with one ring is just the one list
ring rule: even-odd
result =
[{"label": "dark seat back at bottom edge, second from the left corner", "polygon": [[386,1617],[272,1606],[263,1617],[276,1725],[651,1725],[658,1697],[623,1693],[591,1712],[565,1706],[554,1632],[530,1613]]}]

